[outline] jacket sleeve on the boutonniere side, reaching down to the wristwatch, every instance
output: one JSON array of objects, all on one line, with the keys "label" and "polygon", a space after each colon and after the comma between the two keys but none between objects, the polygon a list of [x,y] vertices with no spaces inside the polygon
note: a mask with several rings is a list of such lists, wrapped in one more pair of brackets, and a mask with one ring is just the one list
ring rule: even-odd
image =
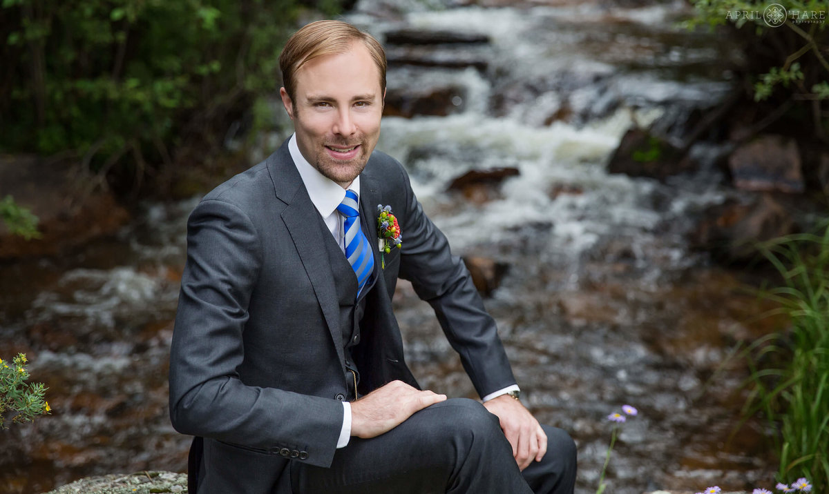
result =
[{"label": "jacket sleeve on the boutonniere side, reaching down to the wristwatch", "polygon": [[402,166],[400,172],[405,186],[400,277],[411,281],[417,295],[434,309],[478,395],[515,384],[495,320],[484,309],[472,276],[450,252],[444,233],[424,214]]}]

